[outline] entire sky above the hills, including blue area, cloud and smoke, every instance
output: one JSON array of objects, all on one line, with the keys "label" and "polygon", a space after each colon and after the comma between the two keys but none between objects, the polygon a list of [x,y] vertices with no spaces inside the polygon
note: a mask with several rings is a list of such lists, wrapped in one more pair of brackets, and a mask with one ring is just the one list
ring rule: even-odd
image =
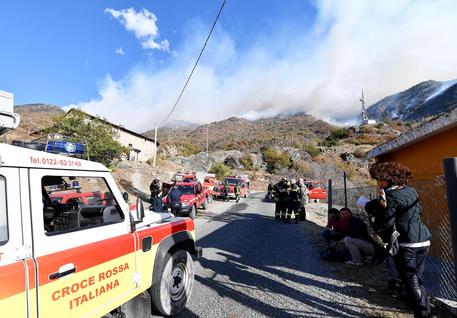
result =
[{"label": "entire sky above the hills, including blue area, cloud and smoke", "polygon": [[[146,130],[173,105],[220,1],[2,1],[0,90]],[[457,78],[452,0],[228,0],[172,120],[345,120]],[[128,116],[126,116],[128,114]]]}]

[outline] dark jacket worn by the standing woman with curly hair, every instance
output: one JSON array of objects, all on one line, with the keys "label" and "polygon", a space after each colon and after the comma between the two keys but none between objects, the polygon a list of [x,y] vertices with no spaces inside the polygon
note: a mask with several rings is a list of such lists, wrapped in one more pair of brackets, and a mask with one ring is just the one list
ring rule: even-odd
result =
[{"label": "dark jacket worn by the standing woman with curly hair", "polygon": [[420,243],[430,240],[430,231],[421,222],[419,195],[411,187],[386,190],[387,207],[384,226],[392,230],[395,224],[400,243]]}]

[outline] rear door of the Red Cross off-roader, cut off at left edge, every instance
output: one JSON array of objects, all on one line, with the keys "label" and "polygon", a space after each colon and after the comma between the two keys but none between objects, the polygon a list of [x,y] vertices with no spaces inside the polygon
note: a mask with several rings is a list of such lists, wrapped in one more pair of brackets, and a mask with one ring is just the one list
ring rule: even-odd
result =
[{"label": "rear door of the Red Cross off-roader, cut off at left edge", "polygon": [[27,260],[31,246],[22,235],[18,168],[0,168],[0,315],[27,317],[29,286]]}]

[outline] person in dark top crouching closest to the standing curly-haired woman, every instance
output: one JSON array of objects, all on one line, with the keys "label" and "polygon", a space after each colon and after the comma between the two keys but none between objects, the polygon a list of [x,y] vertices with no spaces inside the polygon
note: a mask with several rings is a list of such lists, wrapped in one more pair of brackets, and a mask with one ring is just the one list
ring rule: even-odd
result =
[{"label": "person in dark top crouching closest to the standing curly-haired woman", "polygon": [[348,222],[348,230],[344,238],[344,245],[351,254],[351,261],[347,264],[363,265],[371,262],[375,257],[375,249],[368,233],[368,227],[361,219],[352,215],[348,208],[340,210],[341,219]]}]

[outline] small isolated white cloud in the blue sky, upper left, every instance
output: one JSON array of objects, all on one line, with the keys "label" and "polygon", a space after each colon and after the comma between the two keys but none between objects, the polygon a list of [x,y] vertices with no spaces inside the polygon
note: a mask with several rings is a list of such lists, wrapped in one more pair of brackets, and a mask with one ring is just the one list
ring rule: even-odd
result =
[{"label": "small isolated white cloud in the blue sky, upper left", "polygon": [[133,32],[135,37],[141,41],[143,49],[170,51],[168,40],[157,42],[159,28],[154,13],[146,9],[135,11],[133,8],[122,10],[107,8],[105,13],[117,19],[127,31]]}]

